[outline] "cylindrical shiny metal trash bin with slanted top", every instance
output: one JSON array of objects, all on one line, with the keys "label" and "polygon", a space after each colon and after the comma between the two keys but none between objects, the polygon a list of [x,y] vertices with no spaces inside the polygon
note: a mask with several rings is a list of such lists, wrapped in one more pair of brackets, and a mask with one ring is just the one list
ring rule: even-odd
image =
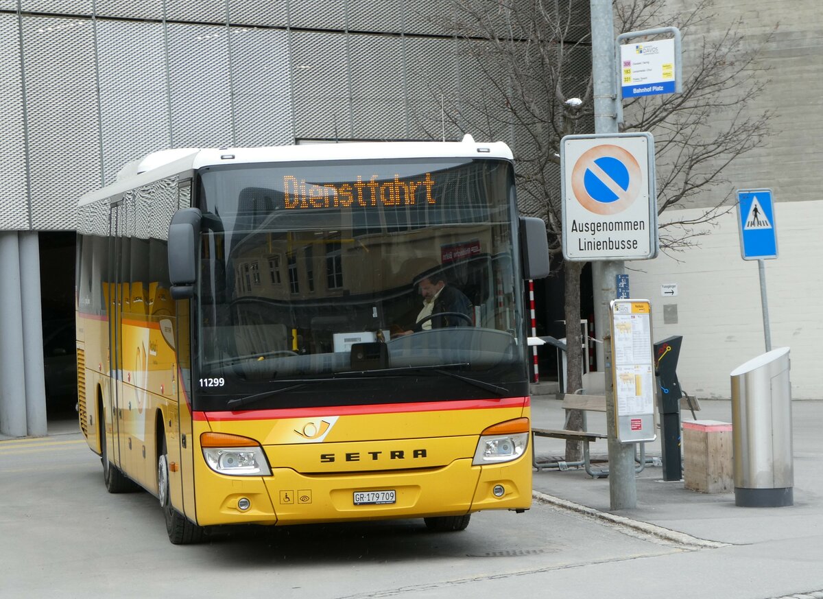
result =
[{"label": "cylindrical shiny metal trash bin with slanted top", "polygon": [[793,505],[792,385],[788,347],[732,370],[734,503]]}]

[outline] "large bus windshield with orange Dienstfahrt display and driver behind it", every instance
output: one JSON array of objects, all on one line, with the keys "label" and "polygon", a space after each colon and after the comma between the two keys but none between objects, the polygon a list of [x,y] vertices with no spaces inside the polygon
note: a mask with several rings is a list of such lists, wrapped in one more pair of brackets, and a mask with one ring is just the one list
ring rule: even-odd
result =
[{"label": "large bus windshield with orange Dienstfahrt display and driver behind it", "polygon": [[195,409],[527,394],[509,162],[227,165],[198,180]]}]

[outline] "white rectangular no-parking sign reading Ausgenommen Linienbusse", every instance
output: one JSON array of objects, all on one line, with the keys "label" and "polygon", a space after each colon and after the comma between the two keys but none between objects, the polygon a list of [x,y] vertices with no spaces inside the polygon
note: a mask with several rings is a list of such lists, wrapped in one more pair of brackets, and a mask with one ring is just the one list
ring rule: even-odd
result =
[{"label": "white rectangular no-parking sign reading Ausgenommen Linienbusse", "polygon": [[560,169],[566,260],[657,256],[650,133],[566,136],[560,142]]}]

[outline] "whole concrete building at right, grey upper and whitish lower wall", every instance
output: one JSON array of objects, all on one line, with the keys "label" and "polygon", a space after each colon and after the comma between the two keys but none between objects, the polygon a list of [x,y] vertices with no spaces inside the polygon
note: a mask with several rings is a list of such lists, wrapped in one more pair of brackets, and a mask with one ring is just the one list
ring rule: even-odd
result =
[{"label": "whole concrete building at right, grey upper and whitish lower wall", "polygon": [[[693,6],[685,0],[668,2],[672,12]],[[779,258],[765,261],[772,346],[792,349],[793,397],[819,399],[823,12],[817,0],[790,6],[758,0],[717,2],[714,12],[717,16],[701,24],[700,35],[684,39],[684,69],[696,66],[690,47],[720,42],[739,18],[745,44],[765,43],[754,67],[766,69],[756,75],[768,79],[760,97],[740,105],[745,114],[774,114],[770,136],[765,145],[728,167],[728,183],[700,194],[686,209],[663,212],[661,222],[687,220],[727,194],[733,207],[737,189],[772,189],[779,250]],[[728,114],[718,111],[714,118]],[[678,374],[683,388],[698,397],[729,397],[729,373],[765,351],[757,262],[742,260],[737,228],[737,213],[731,211],[714,227],[702,228],[706,234],[697,248],[626,263],[631,294],[652,300],[654,337],[684,336]],[[663,295],[671,289],[663,286],[671,284],[677,285],[677,296]]]}]

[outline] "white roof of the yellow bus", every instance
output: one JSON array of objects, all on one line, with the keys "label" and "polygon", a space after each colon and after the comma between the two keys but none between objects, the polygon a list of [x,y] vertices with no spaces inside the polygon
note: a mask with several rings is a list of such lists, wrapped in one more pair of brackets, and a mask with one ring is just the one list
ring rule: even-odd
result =
[{"label": "white roof of the yellow bus", "polygon": [[466,135],[461,142],[344,142],[298,146],[174,148],[152,152],[123,167],[114,183],[86,193],[78,206],[192,169],[215,165],[327,160],[413,158],[496,158],[512,160],[504,142],[478,143]]}]

